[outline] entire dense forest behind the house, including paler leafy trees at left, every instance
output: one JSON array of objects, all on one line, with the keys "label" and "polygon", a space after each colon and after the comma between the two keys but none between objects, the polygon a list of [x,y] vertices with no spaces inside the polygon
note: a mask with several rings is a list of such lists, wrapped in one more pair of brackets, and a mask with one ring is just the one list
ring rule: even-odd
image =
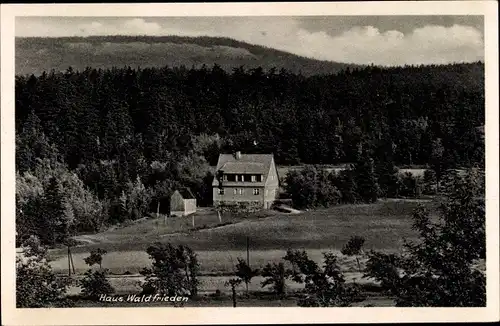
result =
[{"label": "entire dense forest behind the house, including paler leafy trees at left", "polygon": [[[18,232],[95,231],[145,214],[178,185],[209,204],[221,151],[272,152],[281,165],[425,165],[438,178],[482,167],[482,76],[482,63],[317,76],[218,65],[19,75]],[[34,218],[40,205],[46,214]]]}]

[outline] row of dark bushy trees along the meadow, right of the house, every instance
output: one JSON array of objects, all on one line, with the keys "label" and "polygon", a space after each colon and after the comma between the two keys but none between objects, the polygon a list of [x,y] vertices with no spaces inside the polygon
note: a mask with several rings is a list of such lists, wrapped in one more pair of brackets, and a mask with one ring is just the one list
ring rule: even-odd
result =
[{"label": "row of dark bushy trees along the meadow, right of the house", "polygon": [[[439,159],[434,162],[439,164]],[[484,170],[472,170],[484,178]],[[354,163],[337,172],[316,165],[289,171],[280,196],[289,197],[296,208],[373,203],[379,198],[432,198],[445,194],[456,175],[464,172],[442,171],[431,164],[422,175],[401,173],[393,161],[375,163],[366,152],[360,152]]]}]

